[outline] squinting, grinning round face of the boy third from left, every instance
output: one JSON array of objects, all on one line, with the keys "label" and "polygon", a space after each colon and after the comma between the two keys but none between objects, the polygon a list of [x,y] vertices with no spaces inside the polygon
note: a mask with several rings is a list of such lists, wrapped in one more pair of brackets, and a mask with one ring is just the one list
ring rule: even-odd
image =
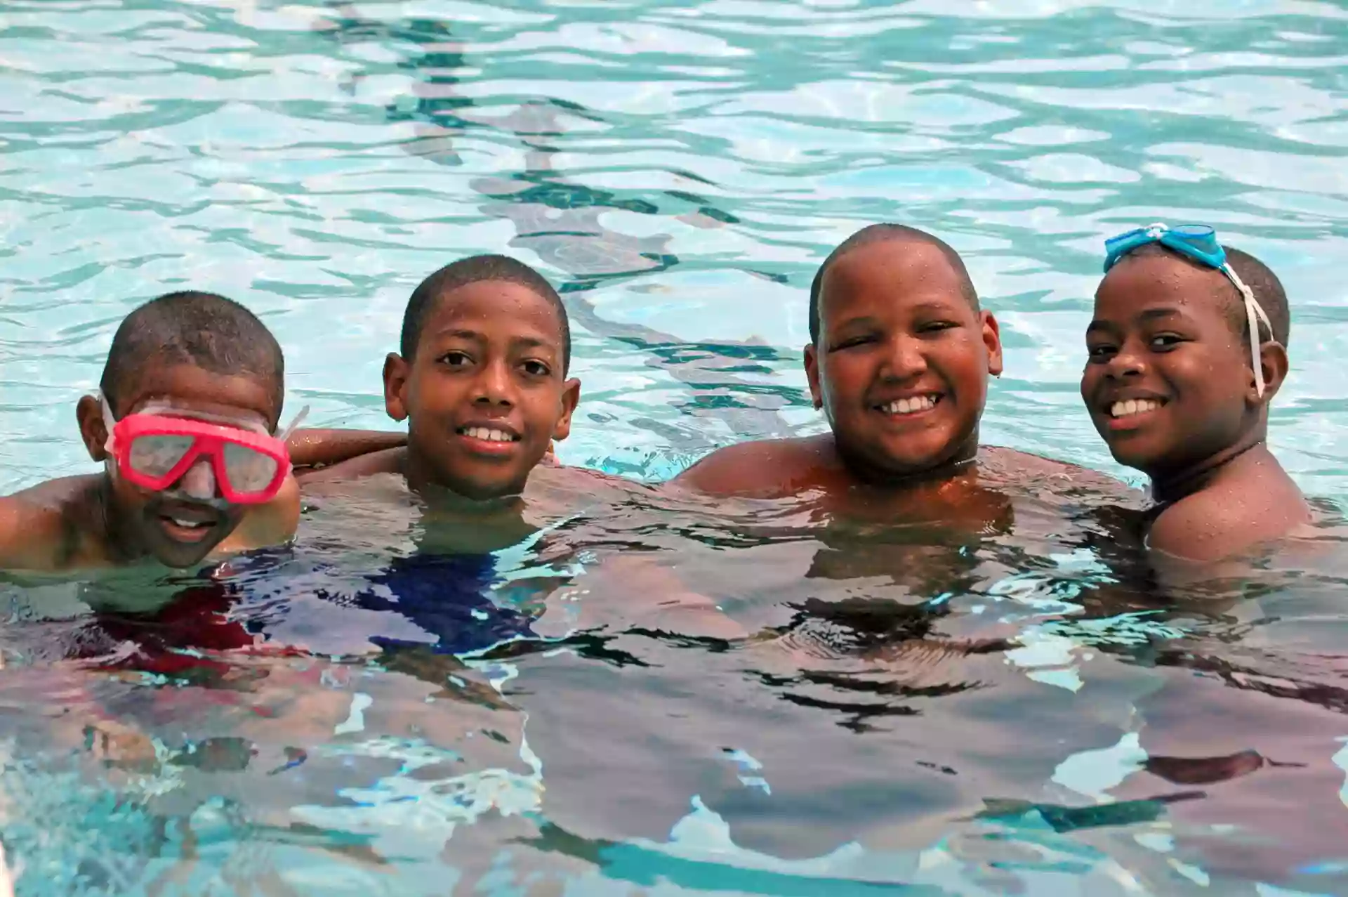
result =
[{"label": "squinting, grinning round face of the boy third from left", "polygon": [[857,247],[825,271],[805,368],[838,453],[861,476],[919,473],[977,451],[1002,345],[964,290],[942,251],[917,240]]}]

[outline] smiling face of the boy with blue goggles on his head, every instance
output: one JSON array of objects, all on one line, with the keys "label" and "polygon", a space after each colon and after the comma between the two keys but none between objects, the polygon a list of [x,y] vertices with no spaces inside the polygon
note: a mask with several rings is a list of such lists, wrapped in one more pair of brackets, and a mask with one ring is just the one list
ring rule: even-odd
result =
[{"label": "smiling face of the boy with blue goggles on his head", "polygon": [[1220,271],[1169,254],[1119,262],[1096,290],[1081,398],[1115,460],[1153,479],[1229,449],[1262,421]]}]

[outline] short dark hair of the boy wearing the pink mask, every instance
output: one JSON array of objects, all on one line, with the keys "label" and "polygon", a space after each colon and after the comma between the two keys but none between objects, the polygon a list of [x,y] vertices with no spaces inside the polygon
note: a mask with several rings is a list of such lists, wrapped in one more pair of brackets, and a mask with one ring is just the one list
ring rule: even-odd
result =
[{"label": "short dark hair of the boy wearing the pink mask", "polygon": [[183,290],[150,299],[123,318],[98,388],[115,410],[150,366],[191,364],[210,374],[252,376],[267,386],[276,425],[286,399],[286,357],[257,316],[222,295]]}]

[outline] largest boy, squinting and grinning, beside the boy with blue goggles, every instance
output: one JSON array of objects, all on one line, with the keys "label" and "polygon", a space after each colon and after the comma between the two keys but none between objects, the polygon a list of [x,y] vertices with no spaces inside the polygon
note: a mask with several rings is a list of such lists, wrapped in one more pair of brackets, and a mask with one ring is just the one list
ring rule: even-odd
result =
[{"label": "largest boy, squinting and grinning, beside the boy with blue goggles", "polygon": [[1002,341],[964,262],[937,237],[898,224],[852,235],[820,266],[809,320],[805,372],[829,433],[718,449],[675,486],[748,498],[814,492],[848,517],[976,526],[1004,517],[1004,496],[987,487],[1012,478],[1122,492],[1082,468],[980,449]]}]

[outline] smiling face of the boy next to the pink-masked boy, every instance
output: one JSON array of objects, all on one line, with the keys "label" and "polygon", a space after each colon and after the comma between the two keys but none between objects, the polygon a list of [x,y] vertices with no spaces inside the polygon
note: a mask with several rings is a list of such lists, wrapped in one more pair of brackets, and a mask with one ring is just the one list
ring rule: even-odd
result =
[{"label": "smiling face of the boy next to the pink-masked boy", "polygon": [[528,287],[479,281],[442,295],[412,359],[384,364],[388,414],[408,418],[408,480],[474,499],[519,492],[570,434],[580,382],[562,364],[558,310]]}]

